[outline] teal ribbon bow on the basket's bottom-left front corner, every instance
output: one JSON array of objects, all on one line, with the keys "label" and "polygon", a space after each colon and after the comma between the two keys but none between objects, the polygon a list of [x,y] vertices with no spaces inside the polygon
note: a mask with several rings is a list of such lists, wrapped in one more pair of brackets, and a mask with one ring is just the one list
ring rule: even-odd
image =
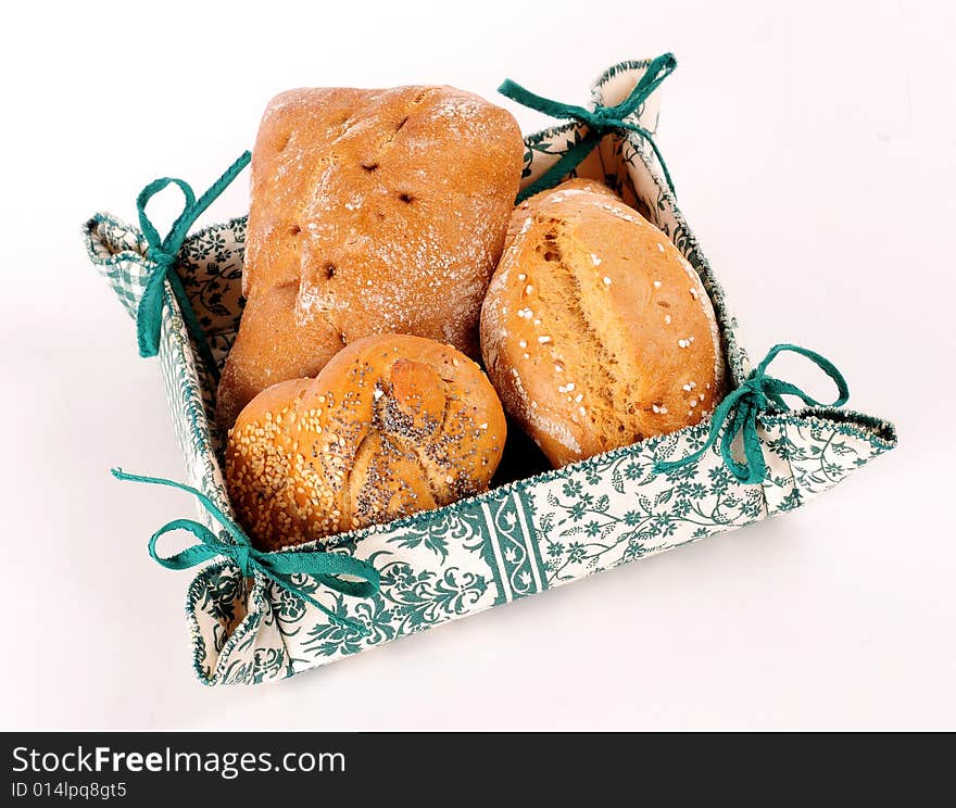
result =
[{"label": "teal ribbon bow on the basket's bottom-left front corner", "polygon": [[[370,597],[379,591],[380,579],[378,570],[368,561],[363,561],[360,558],[342,553],[327,553],[320,550],[264,553],[253,547],[242,528],[226,516],[202,491],[159,477],[128,475],[120,468],[112,469],[112,474],[117,480],[168,485],[180,491],[187,491],[205,506],[216,518],[216,521],[225,528],[234,542],[223,541],[201,522],[193,521],[192,519],[174,519],[160,528],[150,538],[149,553],[153,560],[167,569],[188,569],[212,558],[225,556],[239,567],[246,578],[253,578],[255,572],[262,572],[287,592],[291,592],[295,597],[301,597],[324,611],[336,622],[345,624],[360,633],[368,633],[361,622],[337,615],[312,597],[301,585],[292,581],[292,576],[309,576],[328,589],[343,595]],[[156,551],[156,542],[161,536],[174,530],[186,530],[199,539],[200,543],[193,544],[191,547],[174,553],[171,556],[161,556]],[[357,580],[347,580],[340,576],[349,576]]]}]

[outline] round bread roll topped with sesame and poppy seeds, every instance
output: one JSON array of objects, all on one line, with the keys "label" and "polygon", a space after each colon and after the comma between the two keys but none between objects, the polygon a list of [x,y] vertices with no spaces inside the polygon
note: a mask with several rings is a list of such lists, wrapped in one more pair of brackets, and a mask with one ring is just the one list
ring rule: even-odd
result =
[{"label": "round bread roll topped with sesame and poppy seeds", "polygon": [[471,359],[433,340],[374,336],[246,406],[226,484],[253,543],[275,550],[483,491],[505,431]]}]

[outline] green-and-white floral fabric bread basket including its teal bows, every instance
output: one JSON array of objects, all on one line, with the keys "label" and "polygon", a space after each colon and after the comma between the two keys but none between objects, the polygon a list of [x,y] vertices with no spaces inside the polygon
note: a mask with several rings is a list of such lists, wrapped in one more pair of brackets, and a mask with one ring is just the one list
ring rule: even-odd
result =
[{"label": "green-and-white floral fabric bread basket including its teal bows", "polygon": [[[247,159],[199,200],[181,180],[152,184],[139,199],[140,229],[106,214],[86,223],[89,257],[137,318],[140,353],[159,355],[189,485],[114,474],[186,489],[200,501],[201,521],[171,522],[153,535],[150,552],[175,569],[210,561],[192,580],[186,604],[193,667],[203,683],[279,680],[750,525],[798,507],[894,447],[890,422],[842,408],[845,382],[818,354],[779,345],[752,367],[654,144],[653,91],[674,64],[668,54],[611,67],[593,85],[588,110],[548,102],[514,85],[503,89],[570,119],[525,139],[523,193],[569,175],[602,180],[696,269],[714,304],[731,379],[721,406],[699,426],[340,534],[322,546],[253,550],[235,523],[223,481],[215,367],[228,353],[242,311],[246,217],[186,233]],[[171,182],[187,205],[161,239],[143,209]],[[789,350],[836,382],[835,405],[819,405],[768,374],[773,356]],[[796,395],[803,405],[791,409],[783,395]],[[160,555],[158,540],[177,529],[200,542]]]}]

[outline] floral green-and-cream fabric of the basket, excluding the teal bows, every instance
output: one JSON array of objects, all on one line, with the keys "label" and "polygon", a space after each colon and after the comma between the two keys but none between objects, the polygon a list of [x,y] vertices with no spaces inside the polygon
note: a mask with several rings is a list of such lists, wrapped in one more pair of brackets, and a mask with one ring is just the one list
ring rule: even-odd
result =
[{"label": "floral green-and-cream fabric of the basket, excluding the teal bows", "polygon": [[[647,64],[625,62],[608,70],[593,86],[594,102],[618,103]],[[655,98],[630,119],[653,135]],[[569,123],[526,138],[524,185],[544,174],[586,131]],[[576,175],[611,186],[693,265],[717,314],[729,388],[743,384],[751,366],[735,320],[647,141],[626,130],[608,134]],[[146,257],[146,238],[105,214],[87,223],[85,237],[90,260],[135,316],[155,268]],[[244,239],[246,217],[236,218],[189,237],[178,255],[178,275],[219,366],[242,311]],[[214,426],[215,381],[197,359],[168,281],[159,357],[189,481],[232,516],[223,482],[222,435]],[[766,462],[756,484],[741,482],[717,446],[694,463],[657,470],[657,462],[679,459],[704,445],[710,428],[705,420],[524,479],[514,477],[527,470],[506,464],[502,472],[513,481],[488,493],[334,536],[325,548],[375,566],[378,593],[347,596],[306,576],[297,577],[295,584],[335,616],[351,620],[329,616],[261,572],[244,577],[229,558],[214,560],[197,573],[187,597],[196,672],[206,684],[252,684],[326,665],[790,510],[896,444],[891,424],[844,408],[763,412],[756,426]],[[224,542],[231,541],[205,508],[201,515]]]}]

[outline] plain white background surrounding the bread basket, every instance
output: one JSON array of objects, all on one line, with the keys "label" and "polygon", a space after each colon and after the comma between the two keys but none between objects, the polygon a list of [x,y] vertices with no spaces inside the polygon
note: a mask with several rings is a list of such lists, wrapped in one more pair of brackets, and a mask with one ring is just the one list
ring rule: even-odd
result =
[{"label": "plain white background surrounding the bread basket", "polygon": [[[2,729],[956,729],[956,7],[381,5],[4,10]],[[156,176],[205,188],[289,87],[510,76],[584,102],[665,50],[658,144],[751,355],[821,351],[900,449],[784,518],[278,685],[200,685],[190,573],[146,552],[193,503],[108,474],[183,477],[159,368],[80,223],[133,220]],[[246,204],[240,181],[203,223]]]}]

